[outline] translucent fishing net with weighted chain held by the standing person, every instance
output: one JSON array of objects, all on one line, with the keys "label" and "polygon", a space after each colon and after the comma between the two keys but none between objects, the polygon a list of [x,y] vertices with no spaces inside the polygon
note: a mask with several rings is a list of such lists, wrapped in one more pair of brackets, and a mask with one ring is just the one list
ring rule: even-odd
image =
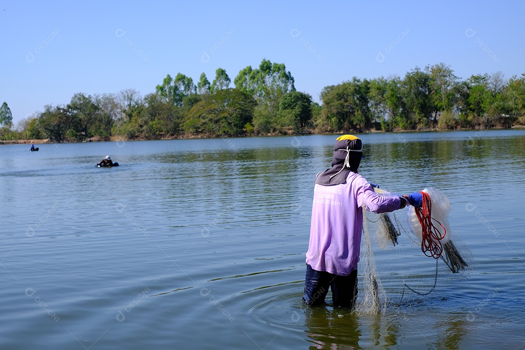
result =
[{"label": "translucent fishing net with weighted chain held by the standing person", "polygon": [[[374,188],[374,190],[380,194],[392,195],[383,189]],[[406,220],[400,219],[406,215],[403,213],[404,210],[384,214],[363,211],[360,285],[356,305],[358,313],[382,313],[386,310],[386,305],[389,302],[377,272],[372,238],[381,249],[390,249],[399,245],[403,236],[407,236],[414,243],[413,246],[421,249],[422,264],[435,261],[435,268],[433,269],[435,273],[432,277],[430,275],[423,276],[421,272],[417,271],[417,267],[412,267],[409,276],[407,276],[408,283],[405,280],[402,281],[403,290],[400,303],[403,302],[405,293],[408,291],[416,295],[432,293],[438,283],[438,271],[444,274],[459,274],[461,277],[466,277],[469,272],[471,262],[474,259],[458,235],[450,229],[448,221],[450,201],[448,197],[432,187],[425,188],[421,193],[426,203],[421,209],[409,206]],[[403,236],[401,236],[402,234]],[[403,259],[402,255],[400,259]],[[442,261],[446,268],[439,269],[439,261]],[[402,272],[395,271],[393,273],[401,274]],[[449,279],[442,280],[446,282]]]}]

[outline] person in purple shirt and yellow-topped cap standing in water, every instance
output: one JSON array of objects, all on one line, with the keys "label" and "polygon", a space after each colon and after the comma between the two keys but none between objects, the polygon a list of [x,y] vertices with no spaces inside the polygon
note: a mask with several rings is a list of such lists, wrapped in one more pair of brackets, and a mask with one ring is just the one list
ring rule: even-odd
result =
[{"label": "person in purple shirt and yellow-topped cap standing in water", "polygon": [[335,307],[354,307],[363,227],[361,207],[372,213],[387,213],[407,204],[421,206],[418,192],[402,197],[375,193],[358,174],[361,158],[361,140],[353,135],[340,136],[333,147],[332,167],[316,176],[302,297],[308,305],[324,303],[330,288]]}]

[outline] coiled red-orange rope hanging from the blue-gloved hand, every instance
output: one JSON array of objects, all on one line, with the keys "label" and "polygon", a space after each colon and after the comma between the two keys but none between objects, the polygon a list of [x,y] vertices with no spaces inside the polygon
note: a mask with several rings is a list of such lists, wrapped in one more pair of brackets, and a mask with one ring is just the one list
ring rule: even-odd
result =
[{"label": "coiled red-orange rope hanging from the blue-gloved hand", "polygon": [[[441,222],[434,219],[432,215],[432,201],[430,201],[430,195],[426,192],[419,192],[423,195],[423,205],[421,208],[414,208],[416,211],[417,219],[421,224],[422,239],[421,239],[421,251],[427,257],[433,257],[437,259],[443,253],[443,245],[441,240],[445,238],[447,230],[441,224]],[[443,235],[439,230],[432,224],[432,220],[436,221],[439,226],[443,227]]]}]

